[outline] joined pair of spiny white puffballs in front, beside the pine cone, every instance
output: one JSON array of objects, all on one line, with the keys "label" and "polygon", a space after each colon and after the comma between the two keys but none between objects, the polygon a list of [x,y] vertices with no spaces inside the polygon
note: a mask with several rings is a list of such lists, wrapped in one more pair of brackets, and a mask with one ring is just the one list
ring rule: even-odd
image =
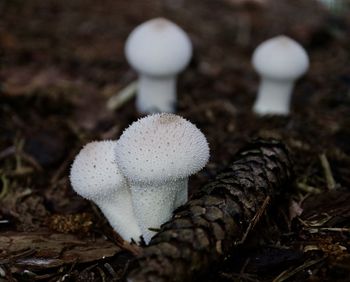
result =
[{"label": "joined pair of spiny white puffballs in front, beside the pine cone", "polygon": [[186,119],[153,114],[132,123],[117,141],[91,142],[73,162],[70,180],[94,201],[125,239],[146,243],[187,201],[188,177],[209,159],[203,133]]}]

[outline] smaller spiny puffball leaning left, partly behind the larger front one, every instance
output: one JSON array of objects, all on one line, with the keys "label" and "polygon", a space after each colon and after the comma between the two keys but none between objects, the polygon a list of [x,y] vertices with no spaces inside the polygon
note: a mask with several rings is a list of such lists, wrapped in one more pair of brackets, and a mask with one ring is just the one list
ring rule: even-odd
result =
[{"label": "smaller spiny puffball leaning left, partly behind the larger front one", "polygon": [[73,189],[93,201],[124,240],[139,241],[141,231],[132,209],[131,193],[118,168],[116,142],[91,142],[76,156],[70,171]]}]

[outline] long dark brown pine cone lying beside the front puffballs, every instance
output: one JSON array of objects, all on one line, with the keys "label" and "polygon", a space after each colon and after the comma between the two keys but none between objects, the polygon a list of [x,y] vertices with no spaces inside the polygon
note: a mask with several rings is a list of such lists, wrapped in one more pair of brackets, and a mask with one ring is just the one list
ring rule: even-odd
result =
[{"label": "long dark brown pine cone lying beside the front puffballs", "polygon": [[291,179],[291,160],[281,143],[251,143],[162,226],[128,281],[188,281],[212,269],[244,240]]}]

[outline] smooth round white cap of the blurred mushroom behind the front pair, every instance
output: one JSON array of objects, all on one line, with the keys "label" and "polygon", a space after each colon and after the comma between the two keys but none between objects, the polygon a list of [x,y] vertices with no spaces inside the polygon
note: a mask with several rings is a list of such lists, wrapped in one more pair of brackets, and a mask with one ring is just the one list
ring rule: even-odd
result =
[{"label": "smooth round white cap of the blurred mushroom behind the front pair", "polygon": [[155,18],[136,27],[129,35],[125,54],[130,65],[150,76],[173,76],[192,56],[187,34],[173,22]]}]

